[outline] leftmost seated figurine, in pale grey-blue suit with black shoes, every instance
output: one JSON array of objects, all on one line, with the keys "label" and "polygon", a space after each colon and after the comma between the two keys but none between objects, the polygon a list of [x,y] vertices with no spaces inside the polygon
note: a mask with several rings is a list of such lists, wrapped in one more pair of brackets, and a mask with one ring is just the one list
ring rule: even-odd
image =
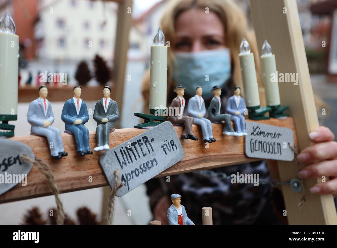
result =
[{"label": "leftmost seated figurine, in pale grey-blue suit with black shoes", "polygon": [[52,105],[46,99],[48,88],[45,85],[39,87],[40,97],[29,104],[27,117],[32,125],[30,132],[35,135],[47,137],[50,153],[53,159],[60,159],[68,154],[64,151],[60,130],[51,127],[54,122]]}]

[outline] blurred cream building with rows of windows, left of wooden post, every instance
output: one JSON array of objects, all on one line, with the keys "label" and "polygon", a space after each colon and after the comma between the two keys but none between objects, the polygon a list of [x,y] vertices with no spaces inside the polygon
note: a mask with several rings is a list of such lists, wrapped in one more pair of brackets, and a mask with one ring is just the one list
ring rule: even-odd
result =
[{"label": "blurred cream building with rows of windows, left of wooden post", "polygon": [[90,0],[40,0],[36,56],[51,60],[113,59],[117,5]]}]

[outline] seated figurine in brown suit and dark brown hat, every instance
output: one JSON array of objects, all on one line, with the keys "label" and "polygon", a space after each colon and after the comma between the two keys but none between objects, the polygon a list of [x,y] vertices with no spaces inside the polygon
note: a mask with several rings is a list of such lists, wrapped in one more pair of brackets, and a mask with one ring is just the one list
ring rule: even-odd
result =
[{"label": "seated figurine in brown suit and dark brown hat", "polygon": [[[169,116],[167,117],[168,121],[171,121],[174,124],[184,124],[184,131],[181,135],[184,139],[191,139],[191,140],[198,140],[197,137],[193,135],[192,132],[192,124],[194,121],[193,117],[183,115],[184,108],[185,108],[185,99],[183,97],[185,91],[185,87],[183,87],[181,84],[177,85],[177,87],[174,88],[174,92],[177,93],[177,97],[173,99],[170,110]],[[170,113],[171,112],[171,113]]]}]

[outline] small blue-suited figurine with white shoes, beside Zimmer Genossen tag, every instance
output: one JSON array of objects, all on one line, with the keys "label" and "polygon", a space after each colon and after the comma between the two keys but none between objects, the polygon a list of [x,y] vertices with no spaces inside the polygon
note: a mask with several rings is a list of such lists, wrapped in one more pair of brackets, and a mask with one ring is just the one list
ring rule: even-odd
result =
[{"label": "small blue-suited figurine with white shoes, beside Zimmer Genossen tag", "polygon": [[246,136],[245,117],[243,114],[246,110],[245,100],[240,97],[241,89],[239,86],[235,87],[233,97],[230,97],[227,102],[226,112],[232,115],[236,132],[239,136]]}]

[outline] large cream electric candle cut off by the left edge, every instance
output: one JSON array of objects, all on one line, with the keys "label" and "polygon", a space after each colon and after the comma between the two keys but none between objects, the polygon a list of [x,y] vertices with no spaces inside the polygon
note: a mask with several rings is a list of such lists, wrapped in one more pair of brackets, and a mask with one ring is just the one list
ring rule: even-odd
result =
[{"label": "large cream electric candle cut off by the left edge", "polygon": [[17,115],[19,36],[6,11],[0,19],[0,115]]}]

